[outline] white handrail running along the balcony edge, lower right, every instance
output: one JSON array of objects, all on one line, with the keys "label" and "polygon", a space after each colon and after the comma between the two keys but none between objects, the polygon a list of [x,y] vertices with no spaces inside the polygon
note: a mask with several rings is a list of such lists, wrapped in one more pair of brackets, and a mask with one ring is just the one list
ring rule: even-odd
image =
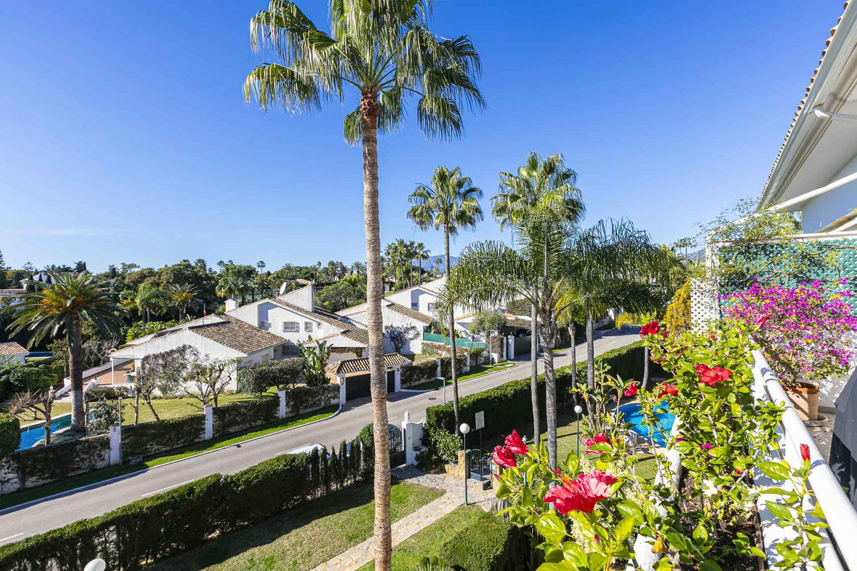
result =
[{"label": "white handrail running along the balcony edge, lower right", "polygon": [[812,465],[809,485],[812,487],[812,493],[818,505],[824,511],[824,520],[829,526],[827,532],[836,542],[836,549],[841,556],[837,562],[830,561],[830,557],[835,554],[828,550],[825,553],[824,568],[844,567],[857,571],[857,540],[855,540],[857,539],[857,511],[842,491],[842,485],[824,460],[824,455],[821,454],[812,435],[806,430],[806,425],[794,410],[791,401],[782,390],[782,384],[771,371],[762,352],[753,351],[752,357],[755,361],[753,376],[757,384],[757,398],[767,397],[770,401],[785,407],[782,413],[782,441],[786,459],[800,459],[800,444],[806,444],[809,447]]}]

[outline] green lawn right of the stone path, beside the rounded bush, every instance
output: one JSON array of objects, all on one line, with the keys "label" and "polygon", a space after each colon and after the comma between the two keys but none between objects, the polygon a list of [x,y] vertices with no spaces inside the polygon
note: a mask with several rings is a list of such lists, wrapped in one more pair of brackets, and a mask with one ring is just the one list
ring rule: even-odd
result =
[{"label": "green lawn right of the stone path, beside the rounded bush", "polygon": [[[423,557],[440,558],[444,544],[462,533],[482,535],[485,526],[506,526],[502,520],[477,506],[460,507],[393,548],[391,571],[413,571]],[[360,571],[371,571],[369,562]]]}]

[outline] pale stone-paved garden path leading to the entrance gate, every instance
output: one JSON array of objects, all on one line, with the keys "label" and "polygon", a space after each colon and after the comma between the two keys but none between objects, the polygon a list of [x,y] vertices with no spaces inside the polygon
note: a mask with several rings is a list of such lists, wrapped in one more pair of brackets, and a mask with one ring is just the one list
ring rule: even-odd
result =
[{"label": "pale stone-paved garden path leading to the entrance gate", "polygon": [[[411,484],[446,490],[446,493],[434,502],[427,503],[413,514],[406,515],[393,523],[393,547],[440,520],[441,517],[464,503],[464,482],[459,478],[446,474],[423,473],[414,467],[398,468],[393,471],[393,474]],[[471,479],[470,485],[467,486],[467,493],[470,505],[477,504],[486,511],[490,509],[491,500],[494,498],[492,490],[483,491],[482,486],[477,485],[476,481]],[[313,571],[357,571],[375,558],[374,553],[375,538],[369,538],[362,544],[357,544],[344,553],[333,557],[330,561],[321,563]]]}]

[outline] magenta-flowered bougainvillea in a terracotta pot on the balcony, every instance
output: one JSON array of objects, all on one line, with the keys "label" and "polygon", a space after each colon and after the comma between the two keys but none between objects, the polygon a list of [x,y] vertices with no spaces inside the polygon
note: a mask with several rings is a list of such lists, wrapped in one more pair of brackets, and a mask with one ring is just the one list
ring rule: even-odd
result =
[{"label": "magenta-flowered bougainvillea in a terracotta pot on the balcony", "polygon": [[827,288],[820,281],[786,288],[756,282],[724,295],[725,313],[757,330],[754,339],[804,420],[818,419],[818,381],[851,368],[854,348],[846,337],[857,318],[846,301],[847,280]]}]

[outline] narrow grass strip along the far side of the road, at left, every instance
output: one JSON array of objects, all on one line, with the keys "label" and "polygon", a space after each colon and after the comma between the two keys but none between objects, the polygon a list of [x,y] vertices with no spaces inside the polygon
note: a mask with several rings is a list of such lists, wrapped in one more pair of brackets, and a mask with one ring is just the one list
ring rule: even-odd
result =
[{"label": "narrow grass strip along the far side of the road, at left", "polygon": [[96,482],[100,482],[105,479],[116,478],[117,476],[137,472],[143,468],[159,466],[167,462],[188,458],[189,456],[198,455],[210,450],[231,446],[231,444],[242,443],[250,440],[251,438],[261,437],[266,434],[271,434],[272,432],[305,425],[309,422],[314,422],[315,420],[326,419],[337,410],[338,407],[335,406],[321,408],[311,413],[299,414],[288,419],[278,420],[277,422],[256,427],[249,431],[235,432],[224,437],[213,438],[212,440],[208,440],[203,443],[197,443],[193,446],[170,450],[163,454],[147,458],[137,464],[123,464],[121,466],[106,467],[101,470],[94,470],[93,472],[82,473],[77,476],[72,476],[71,478],[51,482],[50,484],[39,485],[23,491],[15,491],[11,494],[4,494],[3,496],[0,496],[0,509],[9,508],[11,506],[18,505],[19,503],[32,502],[33,500],[38,500],[41,497],[51,496],[63,491],[74,490],[75,488],[83,485],[95,484]]}]

